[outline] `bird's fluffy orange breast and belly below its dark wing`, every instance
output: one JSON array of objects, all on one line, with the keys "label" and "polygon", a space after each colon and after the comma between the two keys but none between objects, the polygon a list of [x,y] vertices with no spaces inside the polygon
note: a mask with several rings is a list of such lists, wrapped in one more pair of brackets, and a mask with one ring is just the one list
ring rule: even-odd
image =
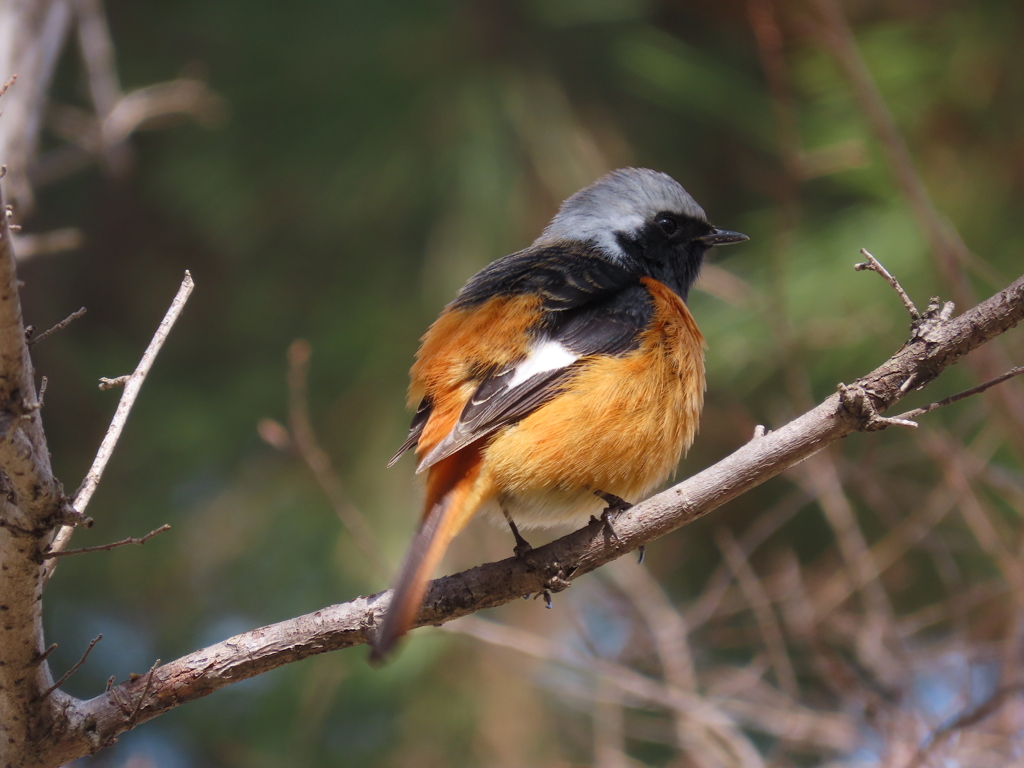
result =
[{"label": "bird's fluffy orange breast and belly below its dark wing", "polygon": [[672,290],[643,283],[654,316],[640,347],[593,357],[563,394],[484,449],[482,471],[517,522],[553,525],[595,514],[603,507],[595,489],[637,502],[693,441],[703,403],[703,337]]}]

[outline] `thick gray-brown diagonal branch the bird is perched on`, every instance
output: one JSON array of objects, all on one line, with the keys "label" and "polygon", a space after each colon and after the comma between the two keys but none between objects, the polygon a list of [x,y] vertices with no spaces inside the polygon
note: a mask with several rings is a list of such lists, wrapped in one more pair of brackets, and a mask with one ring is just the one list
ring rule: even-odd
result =
[{"label": "thick gray-brown diagonal branch the bird is perched on", "polygon": [[[1024,319],[1024,276],[959,317],[915,334],[889,360],[848,390],[883,412],[933,381],[964,355]],[[869,423],[831,395],[783,427],[755,437],[731,456],[638,504],[615,520],[616,539],[592,523],[523,559],[486,563],[431,583],[416,626],[440,625],[531,593],[557,592],[571,580],[692,522]],[[110,743],[119,733],[218,688],[291,662],[369,642],[387,610],[389,592],[358,597],[313,613],[261,627],[155,667],[88,701],[67,709],[62,727],[38,744],[27,765],[50,767]],[[144,700],[143,700],[144,698]],[[130,702],[130,703],[129,703]]]}]

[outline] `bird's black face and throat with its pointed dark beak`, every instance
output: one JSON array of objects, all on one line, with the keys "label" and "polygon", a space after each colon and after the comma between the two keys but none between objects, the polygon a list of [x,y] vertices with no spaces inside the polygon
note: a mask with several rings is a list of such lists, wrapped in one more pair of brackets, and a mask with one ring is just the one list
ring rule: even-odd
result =
[{"label": "bird's black face and throat with its pointed dark beak", "polygon": [[739,243],[745,234],[718,229],[705,219],[662,211],[640,229],[618,232],[618,245],[645,273],[665,283],[684,300],[713,246]]}]

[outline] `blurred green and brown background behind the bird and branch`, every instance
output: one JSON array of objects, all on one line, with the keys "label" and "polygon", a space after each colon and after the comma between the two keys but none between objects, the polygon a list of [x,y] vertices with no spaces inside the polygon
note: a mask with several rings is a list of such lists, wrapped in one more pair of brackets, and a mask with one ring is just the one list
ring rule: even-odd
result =
[{"label": "blurred green and brown background behind the bird and branch", "polygon": [[[68,488],[119,396],[97,379],[134,368],[184,269],[197,283],[73,546],[173,527],[61,560],[46,594],[58,674],[103,635],[67,685],[79,696],[386,588],[419,508],[410,460],[385,464],[420,334],[611,168],[667,171],[751,236],[691,297],[709,392],[679,476],[899,347],[906,313],[854,272],[858,249],[921,305],[984,298],[1024,263],[1010,0],[99,10],[123,92],[182,78],[208,92],[97,153],[76,143],[94,104],[70,39],[34,198],[17,201],[26,234],[81,236],[19,266],[27,322],[88,307],[34,350]],[[1011,334],[909,402],[1021,352]],[[854,435],[551,610],[417,631],[381,670],[362,648],[292,665],[81,765],[1009,765],[1024,750],[1022,402],[1011,382],[919,430]],[[296,437],[330,462],[323,482]],[[445,568],[511,545],[474,523]]]}]

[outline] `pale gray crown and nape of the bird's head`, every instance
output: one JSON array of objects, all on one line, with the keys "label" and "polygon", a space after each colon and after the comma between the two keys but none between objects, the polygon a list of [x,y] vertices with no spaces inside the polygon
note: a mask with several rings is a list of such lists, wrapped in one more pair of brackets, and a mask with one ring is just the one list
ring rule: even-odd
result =
[{"label": "pale gray crown and nape of the bird's head", "polygon": [[590,241],[610,254],[620,254],[616,234],[633,234],[662,212],[708,220],[703,209],[669,174],[649,168],[620,168],[562,203],[534,245]]}]

